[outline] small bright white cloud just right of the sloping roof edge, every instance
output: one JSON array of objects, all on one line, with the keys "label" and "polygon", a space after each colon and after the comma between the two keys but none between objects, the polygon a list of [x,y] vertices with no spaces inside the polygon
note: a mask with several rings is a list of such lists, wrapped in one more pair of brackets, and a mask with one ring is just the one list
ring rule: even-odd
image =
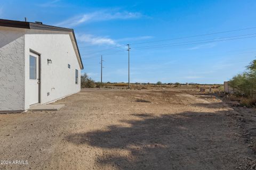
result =
[{"label": "small bright white cloud just right of the sloping roof edge", "polygon": [[89,34],[77,35],[77,40],[92,45],[117,45],[115,40],[106,37],[97,37]]}]

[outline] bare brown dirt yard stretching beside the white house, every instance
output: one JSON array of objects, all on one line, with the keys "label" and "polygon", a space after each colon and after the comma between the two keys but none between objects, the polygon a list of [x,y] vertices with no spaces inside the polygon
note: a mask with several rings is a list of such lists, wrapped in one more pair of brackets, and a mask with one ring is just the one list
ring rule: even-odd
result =
[{"label": "bare brown dirt yard stretching beside the white house", "polygon": [[0,169],[254,169],[256,112],[184,89],[82,89],[0,115]]}]

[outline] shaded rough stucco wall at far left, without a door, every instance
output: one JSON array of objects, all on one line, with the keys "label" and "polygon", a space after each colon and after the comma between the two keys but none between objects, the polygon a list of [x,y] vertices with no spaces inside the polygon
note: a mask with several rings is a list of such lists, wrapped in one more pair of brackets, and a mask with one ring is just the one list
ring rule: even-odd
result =
[{"label": "shaded rough stucco wall at far left, without a door", "polygon": [[0,27],[0,112],[25,109],[25,30]]}]

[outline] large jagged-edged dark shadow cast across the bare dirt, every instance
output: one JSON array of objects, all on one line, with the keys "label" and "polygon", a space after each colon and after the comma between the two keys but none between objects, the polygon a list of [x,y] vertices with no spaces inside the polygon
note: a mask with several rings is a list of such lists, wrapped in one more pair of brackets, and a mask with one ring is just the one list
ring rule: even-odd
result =
[{"label": "large jagged-edged dark shadow cast across the bare dirt", "polygon": [[136,120],[122,121],[130,126],[110,125],[66,140],[107,150],[95,160],[100,169],[235,169],[248,154],[242,139],[230,135],[234,129],[227,128],[230,117],[223,112],[132,116]]}]

